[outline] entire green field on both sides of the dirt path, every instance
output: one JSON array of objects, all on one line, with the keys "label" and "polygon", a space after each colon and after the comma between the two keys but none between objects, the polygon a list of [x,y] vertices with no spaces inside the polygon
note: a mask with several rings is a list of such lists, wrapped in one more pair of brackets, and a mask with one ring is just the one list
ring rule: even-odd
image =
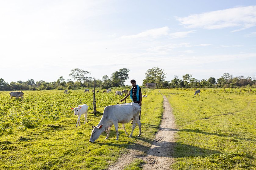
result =
[{"label": "entire green field on both sides of the dirt path", "polygon": [[[153,90],[142,101],[141,137],[136,126],[133,138],[127,138],[119,124],[119,141],[112,128],[108,140],[102,133],[95,143],[89,143],[91,126],[98,124],[105,106],[121,104],[121,96],[96,94],[94,116],[92,93],[24,93],[21,101],[0,92],[0,169],[106,169],[129,149],[146,155],[161,123],[162,94],[173,108],[177,126],[172,169],[256,169],[255,89],[207,89],[195,97],[194,90]],[[88,123],[76,128],[77,116],[70,107],[84,103],[89,105]],[[130,133],[132,125],[125,125]],[[136,159],[124,168],[141,169],[141,164]]]}]

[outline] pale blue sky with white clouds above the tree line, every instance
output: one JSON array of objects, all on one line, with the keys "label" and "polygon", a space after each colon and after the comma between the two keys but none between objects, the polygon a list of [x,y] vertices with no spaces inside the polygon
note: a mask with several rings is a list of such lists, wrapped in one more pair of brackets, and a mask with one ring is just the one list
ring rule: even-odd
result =
[{"label": "pale blue sky with white clouds above the tree line", "polygon": [[256,79],[256,1],[0,1],[0,78],[101,79],[122,68],[141,85],[223,73]]}]

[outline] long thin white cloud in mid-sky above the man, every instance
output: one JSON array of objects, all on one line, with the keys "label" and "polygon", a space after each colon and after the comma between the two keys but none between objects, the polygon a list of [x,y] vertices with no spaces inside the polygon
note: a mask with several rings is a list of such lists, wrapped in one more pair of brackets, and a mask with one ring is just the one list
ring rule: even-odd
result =
[{"label": "long thin white cloud in mid-sky above the man", "polygon": [[135,38],[158,38],[161,36],[168,36],[171,39],[174,38],[184,38],[187,37],[188,34],[193,33],[195,31],[186,31],[186,32],[175,32],[175,33],[169,33],[170,29],[169,27],[165,26],[162,28],[155,28],[155,29],[149,29],[144,32],[140,32],[136,35],[130,35],[130,36],[122,36],[122,39],[135,39]]}]

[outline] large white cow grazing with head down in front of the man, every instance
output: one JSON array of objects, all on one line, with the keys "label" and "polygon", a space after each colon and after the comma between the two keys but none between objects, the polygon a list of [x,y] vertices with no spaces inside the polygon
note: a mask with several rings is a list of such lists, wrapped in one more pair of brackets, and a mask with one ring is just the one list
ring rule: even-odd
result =
[{"label": "large white cow grazing with head down in front of the man", "polygon": [[136,123],[139,125],[139,137],[141,135],[141,123],[139,119],[140,109],[141,107],[137,103],[125,103],[105,107],[103,115],[97,127],[92,126],[93,130],[91,132],[91,138],[89,142],[94,142],[95,140],[97,140],[100,137],[101,133],[104,131],[108,132],[107,137],[105,138],[108,139],[110,128],[113,124],[116,129],[116,140],[118,140],[118,123],[128,123],[132,119],[133,128],[129,138],[132,137],[133,135],[133,130],[135,128]]}]

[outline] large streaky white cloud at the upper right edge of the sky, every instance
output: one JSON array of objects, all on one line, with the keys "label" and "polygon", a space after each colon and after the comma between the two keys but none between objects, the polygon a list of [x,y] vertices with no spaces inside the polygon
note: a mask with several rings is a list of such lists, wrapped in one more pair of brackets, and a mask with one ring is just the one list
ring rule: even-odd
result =
[{"label": "large streaky white cloud at the upper right edge of the sky", "polygon": [[256,26],[256,6],[230,8],[188,17],[176,17],[187,28],[222,29],[238,27],[235,31]]}]

